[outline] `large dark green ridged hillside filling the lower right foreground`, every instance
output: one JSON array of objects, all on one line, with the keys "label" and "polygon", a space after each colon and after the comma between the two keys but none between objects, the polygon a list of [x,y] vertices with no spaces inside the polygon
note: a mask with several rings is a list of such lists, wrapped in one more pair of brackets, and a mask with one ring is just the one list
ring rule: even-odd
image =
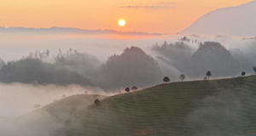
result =
[{"label": "large dark green ridged hillside filling the lower right foreground", "polygon": [[256,77],[174,82],[103,99],[56,135],[255,135]]}]

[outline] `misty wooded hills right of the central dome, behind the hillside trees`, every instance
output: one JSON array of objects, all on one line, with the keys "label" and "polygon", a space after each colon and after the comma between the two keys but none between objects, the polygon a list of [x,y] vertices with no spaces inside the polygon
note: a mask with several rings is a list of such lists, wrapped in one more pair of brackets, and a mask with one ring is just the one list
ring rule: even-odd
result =
[{"label": "misty wooded hills right of the central dome, behind the hillside trees", "polygon": [[[218,42],[200,42],[199,48],[189,47],[188,38],[182,42],[155,44],[153,50],[158,53],[157,59],[190,78],[204,76],[201,71],[211,70],[215,77],[233,77],[237,71],[246,70],[244,59],[236,59],[233,54]],[[248,64],[247,64],[248,65]],[[170,73],[172,71],[166,71]],[[174,80],[175,78],[172,77]],[[177,79],[177,78],[176,78]]]}]

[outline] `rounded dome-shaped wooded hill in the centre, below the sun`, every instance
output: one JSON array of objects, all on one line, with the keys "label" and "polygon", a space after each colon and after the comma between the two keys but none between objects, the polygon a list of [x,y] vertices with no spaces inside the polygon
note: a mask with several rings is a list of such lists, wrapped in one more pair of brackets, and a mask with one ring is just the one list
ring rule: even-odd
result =
[{"label": "rounded dome-shaped wooded hill in the centre, below the sun", "polygon": [[122,54],[109,57],[98,72],[98,83],[102,88],[139,88],[159,82],[162,72],[156,60],[137,47],[125,48]]}]

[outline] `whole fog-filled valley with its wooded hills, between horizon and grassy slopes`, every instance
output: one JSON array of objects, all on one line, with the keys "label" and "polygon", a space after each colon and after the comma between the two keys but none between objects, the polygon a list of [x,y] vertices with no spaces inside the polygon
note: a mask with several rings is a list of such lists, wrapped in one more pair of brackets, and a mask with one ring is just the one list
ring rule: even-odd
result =
[{"label": "whole fog-filled valley with its wooded hills, between horizon and grassy slopes", "polygon": [[163,77],[180,82],[181,74],[184,81],[194,81],[207,77],[207,71],[212,71],[211,79],[255,73],[256,40],[249,37],[3,37],[0,116],[4,122],[75,94],[125,94],[125,88],[155,86]]}]

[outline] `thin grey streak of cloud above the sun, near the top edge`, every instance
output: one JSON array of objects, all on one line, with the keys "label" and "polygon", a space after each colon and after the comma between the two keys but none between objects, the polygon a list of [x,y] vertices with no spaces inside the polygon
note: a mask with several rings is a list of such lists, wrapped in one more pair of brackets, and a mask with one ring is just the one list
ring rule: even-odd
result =
[{"label": "thin grey streak of cloud above the sun, near the top edge", "polygon": [[134,4],[126,4],[122,5],[119,8],[130,8],[130,9],[154,9],[154,10],[161,10],[161,9],[171,9],[175,8],[176,3],[173,2],[160,2],[160,3],[154,3],[152,5],[134,5]]}]

